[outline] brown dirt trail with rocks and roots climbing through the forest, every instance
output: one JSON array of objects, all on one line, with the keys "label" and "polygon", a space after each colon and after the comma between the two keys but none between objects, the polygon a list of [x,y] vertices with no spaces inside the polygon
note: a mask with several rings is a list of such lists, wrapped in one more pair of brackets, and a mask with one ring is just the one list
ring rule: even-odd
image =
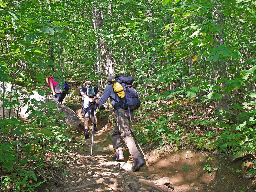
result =
[{"label": "brown dirt trail with rocks and roots climbing through the forest", "polygon": [[[83,144],[83,150],[77,149],[74,152],[76,159],[73,164],[55,172],[59,178],[44,191],[256,191],[242,172],[236,172],[242,169],[241,161],[230,163],[226,155],[206,154],[185,148],[165,156],[159,156],[158,150],[144,151],[149,165],[141,167],[139,172],[132,172],[132,159],[128,159],[128,149],[124,150],[124,162],[112,161],[113,147],[109,137],[111,123],[106,119],[99,119],[99,122],[102,123],[98,124],[99,130],[94,133],[93,156],[89,156],[92,132],[90,131],[90,139],[82,141],[78,138],[80,130],[76,141]],[[203,170],[205,165],[209,165],[212,171]],[[163,177],[170,179],[169,188],[156,181]]]}]

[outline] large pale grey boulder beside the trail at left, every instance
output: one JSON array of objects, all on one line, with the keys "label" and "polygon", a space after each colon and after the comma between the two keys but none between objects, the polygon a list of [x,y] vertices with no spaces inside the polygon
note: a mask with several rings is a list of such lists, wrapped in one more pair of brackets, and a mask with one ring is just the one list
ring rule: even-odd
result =
[{"label": "large pale grey boulder beside the trail at left", "polygon": [[[39,101],[39,105],[34,105],[32,102],[30,102],[31,105],[33,106],[33,108],[36,110],[39,110],[38,107],[40,106],[40,104],[43,104],[45,102],[52,102],[55,104],[55,107],[58,109],[58,111],[65,114],[64,121],[65,121],[65,123],[67,123],[67,125],[69,125],[71,130],[76,130],[79,128],[79,126],[80,126],[79,116],[72,109],[63,105],[59,101],[56,101],[50,97],[42,96],[36,91],[28,92],[28,94],[25,94],[24,92],[27,91],[26,88],[21,87],[19,85],[15,85],[15,84],[13,85],[13,88],[12,88],[12,84],[7,83],[6,85],[4,85],[4,89],[3,89],[3,82],[0,82],[0,97],[3,96],[4,91],[5,91],[5,98],[6,98],[6,95],[8,95],[7,92],[18,93],[19,97],[12,99],[12,100],[18,100],[20,103],[18,106],[15,106],[13,109],[11,109],[11,111],[7,110],[5,108],[5,110],[4,110],[5,117],[9,117],[9,112],[10,112],[11,117],[17,116],[17,114],[18,114],[20,119],[27,120],[28,115],[31,113],[31,111],[27,112],[28,105],[25,104],[25,100]],[[3,105],[3,101],[0,100],[0,119],[3,118],[2,105]]]}]

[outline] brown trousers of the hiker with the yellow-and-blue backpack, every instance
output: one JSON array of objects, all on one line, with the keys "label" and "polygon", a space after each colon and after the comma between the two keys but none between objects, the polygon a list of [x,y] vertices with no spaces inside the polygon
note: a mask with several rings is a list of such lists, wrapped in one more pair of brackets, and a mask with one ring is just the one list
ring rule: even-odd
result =
[{"label": "brown trousers of the hiker with the yellow-and-blue backpack", "polygon": [[[117,113],[118,110],[118,113]],[[124,110],[123,108],[119,108],[115,111],[115,120],[116,124],[113,129],[113,132],[111,134],[111,140],[113,144],[113,148],[116,150],[116,153],[123,152],[123,145],[122,145],[122,138],[124,140],[124,143],[129,149],[129,152],[132,156],[132,158],[140,157],[140,152],[138,151],[136,144],[133,140],[131,130],[129,129],[129,112],[128,110]],[[118,115],[119,114],[119,115]],[[132,119],[133,116],[133,110],[130,111]]]}]

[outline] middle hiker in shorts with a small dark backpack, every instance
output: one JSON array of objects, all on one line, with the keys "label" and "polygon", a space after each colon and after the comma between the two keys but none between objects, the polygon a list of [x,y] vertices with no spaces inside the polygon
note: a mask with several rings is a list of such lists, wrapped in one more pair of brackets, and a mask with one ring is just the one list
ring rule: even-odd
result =
[{"label": "middle hiker in shorts with a small dark backpack", "polygon": [[[83,87],[80,89],[80,94],[84,98],[84,103],[83,103],[83,113],[84,113],[84,137],[85,139],[90,138],[89,131],[88,131],[88,125],[89,125],[89,119],[90,115],[92,118],[92,122],[95,122],[94,126],[94,131],[97,131],[97,118],[94,115],[94,108],[98,107],[98,105],[94,105],[93,99],[100,97],[101,93],[100,90],[92,86],[92,83],[90,81],[86,81],[83,85]],[[94,120],[95,116],[95,120]]]}]

